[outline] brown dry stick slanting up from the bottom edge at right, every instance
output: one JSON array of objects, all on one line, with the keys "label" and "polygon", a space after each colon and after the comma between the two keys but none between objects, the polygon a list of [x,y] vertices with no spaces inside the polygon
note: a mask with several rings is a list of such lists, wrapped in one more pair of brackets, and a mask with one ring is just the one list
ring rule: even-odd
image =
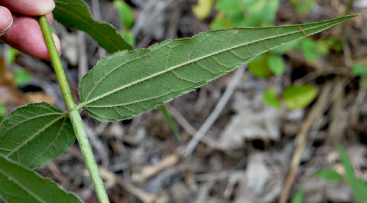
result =
[{"label": "brown dry stick slanting up from the bottom edge at right", "polygon": [[308,113],[305,121],[303,122],[303,125],[301,126],[301,130],[296,136],[296,151],[294,152],[292,158],[292,163],[290,166],[291,168],[289,170],[287,179],[285,180],[285,187],[283,188],[279,203],[287,202],[289,190],[292,188],[292,185],[294,183],[294,179],[296,177],[296,173],[298,170],[298,165],[301,161],[303,149],[305,149],[305,146],[307,145],[308,130],[310,130],[316,116],[322,114],[323,109],[327,104],[328,96],[329,93],[331,92],[332,87],[333,87],[332,84],[326,84],[324,86],[319,98],[317,99],[315,106],[312,107],[312,110],[310,111],[310,113]]}]

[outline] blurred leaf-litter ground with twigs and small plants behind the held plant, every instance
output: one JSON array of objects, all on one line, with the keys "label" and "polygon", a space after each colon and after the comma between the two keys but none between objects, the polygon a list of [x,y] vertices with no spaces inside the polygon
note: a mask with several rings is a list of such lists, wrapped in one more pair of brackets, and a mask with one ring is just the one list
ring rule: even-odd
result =
[{"label": "blurred leaf-litter ground with twigs and small plants behind the held plant", "polygon": [[[367,202],[366,0],[85,2],[136,48],[361,13],[166,104],[179,139],[157,110],[116,123],[82,117],[111,202]],[[78,81],[107,53],[85,33],[52,29],[78,98]],[[4,44],[0,56],[0,119],[41,101],[66,110],[49,61]],[[77,143],[36,171],[98,202]]]}]

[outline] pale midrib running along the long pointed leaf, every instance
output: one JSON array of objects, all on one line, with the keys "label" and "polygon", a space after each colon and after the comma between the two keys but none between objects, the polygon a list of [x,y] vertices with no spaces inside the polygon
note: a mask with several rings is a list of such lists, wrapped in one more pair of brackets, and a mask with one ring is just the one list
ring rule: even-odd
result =
[{"label": "pale midrib running along the long pointed leaf", "polygon": [[[343,19],[340,19],[340,21],[343,21]],[[312,27],[312,28],[310,28],[310,29],[303,29],[303,31],[309,31],[309,30],[312,30],[312,29],[318,29],[318,28],[320,28],[320,27],[328,27],[329,25],[331,25],[331,24],[336,24],[336,23],[338,23],[338,22],[340,22],[340,21],[333,21],[333,22],[330,22],[329,24],[321,24],[320,26]],[[101,96],[97,96],[96,98],[93,98],[92,100],[86,101],[86,102],[84,102],[84,103],[80,103],[80,105],[78,105],[78,106],[79,106],[79,108],[81,108],[81,107],[85,107],[85,106],[87,106],[89,103],[93,103],[94,101],[99,100],[99,99],[101,99],[101,98],[104,98],[104,97],[106,97],[106,96],[109,96],[110,94],[113,94],[113,93],[115,93],[115,92],[117,92],[117,91],[120,91],[120,90],[122,90],[122,89],[126,89],[126,88],[128,88],[128,87],[131,87],[131,86],[133,86],[134,84],[138,84],[138,83],[144,82],[144,81],[146,81],[146,80],[150,80],[150,79],[152,79],[153,77],[157,77],[157,76],[162,75],[162,74],[164,74],[164,73],[168,73],[168,72],[170,72],[170,71],[172,71],[172,70],[175,70],[176,68],[180,68],[180,67],[182,67],[182,66],[186,66],[186,65],[188,65],[188,64],[190,64],[190,63],[194,63],[194,62],[196,62],[196,61],[200,61],[200,60],[202,60],[202,59],[206,59],[206,58],[208,58],[208,57],[213,57],[213,56],[215,56],[215,55],[217,55],[217,54],[220,54],[220,53],[223,53],[223,52],[228,52],[229,50],[234,50],[234,49],[236,49],[236,48],[243,47],[243,46],[246,46],[246,45],[250,45],[250,44],[253,44],[253,43],[259,43],[259,42],[264,41],[264,40],[270,40],[270,39],[273,39],[273,38],[280,38],[280,37],[283,37],[283,36],[289,36],[289,35],[292,35],[292,34],[294,34],[294,33],[303,33],[303,31],[301,31],[301,30],[300,30],[300,31],[294,31],[294,32],[291,32],[291,33],[285,33],[285,34],[278,35],[278,36],[272,36],[272,37],[264,38],[264,39],[261,39],[261,40],[255,40],[255,41],[252,41],[252,42],[250,42],[250,43],[243,43],[243,44],[236,45],[236,46],[234,46],[234,47],[230,47],[230,48],[227,48],[227,49],[224,49],[224,50],[218,51],[218,52],[214,52],[214,53],[211,53],[211,54],[207,54],[207,55],[205,55],[205,56],[203,56],[203,57],[198,57],[198,58],[193,59],[193,60],[191,60],[191,61],[186,61],[185,63],[181,63],[181,64],[179,64],[179,65],[172,66],[171,68],[168,68],[168,69],[166,69],[166,70],[162,70],[162,71],[160,71],[160,72],[158,72],[158,73],[154,73],[153,75],[150,75],[150,76],[148,76],[148,77],[143,77],[142,79],[140,79],[140,80],[136,80],[135,82],[131,82],[131,83],[125,84],[125,85],[123,85],[123,86],[122,86],[122,87],[120,87],[120,88],[113,89],[113,90],[111,90],[111,91],[108,91],[108,92],[106,92],[106,93],[103,93]],[[121,66],[120,66],[120,67],[121,67]],[[109,74],[109,73],[108,73],[108,74]]]}]

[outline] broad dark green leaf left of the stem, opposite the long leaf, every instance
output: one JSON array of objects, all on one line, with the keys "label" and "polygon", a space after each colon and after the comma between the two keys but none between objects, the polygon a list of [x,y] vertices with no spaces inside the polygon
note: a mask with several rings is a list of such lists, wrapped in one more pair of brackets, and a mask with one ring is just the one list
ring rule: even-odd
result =
[{"label": "broad dark green leaf left of the stem, opposite the long leaf", "polygon": [[10,112],[0,128],[0,154],[31,169],[62,154],[75,141],[67,114],[48,103]]}]

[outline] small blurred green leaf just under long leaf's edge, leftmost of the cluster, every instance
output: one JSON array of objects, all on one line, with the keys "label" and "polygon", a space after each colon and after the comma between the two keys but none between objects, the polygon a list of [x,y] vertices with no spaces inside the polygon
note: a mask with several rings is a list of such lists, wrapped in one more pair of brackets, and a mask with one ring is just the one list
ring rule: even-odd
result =
[{"label": "small blurred green leaf just under long leaf's edge, leftmost of the cluster", "polygon": [[248,64],[248,70],[254,75],[254,77],[266,78],[271,75],[270,68],[268,66],[268,54],[261,54]]}]

